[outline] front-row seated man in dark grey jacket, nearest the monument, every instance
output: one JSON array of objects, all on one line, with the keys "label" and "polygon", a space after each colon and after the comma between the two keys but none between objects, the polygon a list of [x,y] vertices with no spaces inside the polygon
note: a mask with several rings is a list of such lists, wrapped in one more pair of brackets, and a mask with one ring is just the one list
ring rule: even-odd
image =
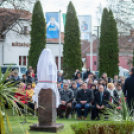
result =
[{"label": "front-row seated man in dark grey jacket, nearest the monument", "polygon": [[66,107],[65,117],[68,119],[72,107],[71,102],[73,100],[73,92],[69,90],[68,83],[64,83],[63,90],[60,91],[60,97],[61,97],[61,105],[58,107],[57,113],[60,116],[60,118],[64,118],[61,108]]}]

